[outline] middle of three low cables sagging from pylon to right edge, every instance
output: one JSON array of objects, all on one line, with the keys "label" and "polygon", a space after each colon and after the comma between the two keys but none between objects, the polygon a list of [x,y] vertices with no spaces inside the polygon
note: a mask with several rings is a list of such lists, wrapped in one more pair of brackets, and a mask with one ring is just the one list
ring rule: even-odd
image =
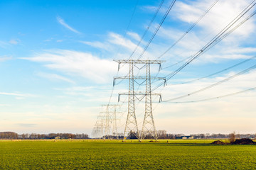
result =
[{"label": "middle of three low cables sagging from pylon to right edge", "polygon": [[234,79],[235,77],[238,77],[238,76],[240,76],[240,75],[242,75],[242,74],[245,74],[246,72],[249,72],[250,70],[255,69],[255,68],[256,68],[256,64],[253,65],[252,67],[249,67],[249,68],[247,68],[247,69],[244,69],[242,72],[239,72],[238,74],[235,74],[235,75],[233,75],[233,76],[231,76],[231,77],[228,77],[227,79],[223,79],[222,81],[218,81],[218,82],[215,83],[215,84],[211,84],[210,86],[206,86],[206,87],[203,88],[203,89],[200,89],[200,90],[197,90],[197,91],[193,91],[193,92],[190,93],[190,94],[186,94],[186,95],[179,96],[179,97],[176,97],[176,98],[167,99],[167,100],[165,100],[165,101],[176,101],[176,100],[178,100],[178,99],[180,99],[180,98],[185,98],[185,97],[188,97],[188,96],[192,96],[193,94],[198,94],[199,92],[205,91],[205,90],[210,89],[210,88],[212,88],[212,87],[214,87],[214,86],[217,86],[217,85],[219,85],[219,84],[223,84],[225,81],[229,81],[230,79]]}]

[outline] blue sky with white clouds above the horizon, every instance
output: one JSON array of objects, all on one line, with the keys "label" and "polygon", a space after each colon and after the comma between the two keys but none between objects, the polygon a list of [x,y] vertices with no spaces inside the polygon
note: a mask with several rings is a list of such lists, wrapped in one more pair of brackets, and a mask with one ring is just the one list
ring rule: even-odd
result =
[{"label": "blue sky with white clouds above the horizon", "polygon": [[[158,59],[214,2],[176,1],[142,60]],[[186,58],[200,51],[250,2],[219,0],[193,29],[159,58],[164,60],[160,72],[158,66],[151,66],[151,76],[166,77],[181,67]],[[127,75],[129,67],[121,64],[118,71],[118,64],[113,60],[127,60],[148,30],[132,55],[132,59],[138,59],[171,1],[164,1],[149,27],[160,3],[159,0],[0,1],[0,131],[85,132],[90,135],[102,104],[110,103],[120,105],[118,130],[123,132],[127,98],[121,96],[118,102],[118,93],[128,91],[128,81],[118,80],[113,87],[113,77]],[[254,10],[255,7],[240,21]],[[255,90],[186,103],[256,87],[255,69],[198,94],[166,102],[255,65],[252,59],[225,72],[183,84],[254,57],[255,26],[255,16],[252,16],[169,79],[167,86],[154,91],[161,93],[164,101],[159,103],[159,98],[152,97],[157,130],[186,135],[256,132]],[[145,70],[134,69],[134,74],[144,75]],[[152,80],[152,89],[159,83],[161,81]],[[145,87],[144,84],[134,86],[137,91]],[[141,129],[144,101],[137,100],[136,106]]]}]

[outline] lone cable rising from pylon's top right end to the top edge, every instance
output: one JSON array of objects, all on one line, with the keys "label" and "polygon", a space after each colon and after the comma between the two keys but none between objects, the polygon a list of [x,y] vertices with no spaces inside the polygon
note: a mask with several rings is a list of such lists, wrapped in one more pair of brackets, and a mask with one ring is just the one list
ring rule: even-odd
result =
[{"label": "lone cable rising from pylon's top right end to the top edge", "polygon": [[183,33],[183,35],[181,35],[181,37],[178,38],[178,40],[176,40],[176,42],[174,42],[174,44],[172,44],[171,47],[169,47],[165,52],[163,52],[163,54],[159,55],[159,57],[157,57],[156,60],[158,60],[159,58],[163,57],[163,56],[166,54],[166,52],[169,52],[169,50],[171,50],[172,47],[174,47],[179,41],[181,41],[182,38],[183,38],[190,30],[192,30],[193,27],[196,26],[196,24],[197,24],[199,21],[201,21],[201,19],[202,19],[204,16],[206,16],[206,13],[208,13],[208,12],[210,11],[210,9],[213,8],[213,6],[215,6],[215,4],[217,4],[217,2],[218,2],[218,0],[214,1],[213,4],[198,18],[198,20],[197,20],[195,23],[193,23],[193,25],[192,25],[190,28],[188,28],[188,30],[186,30],[186,32]]}]

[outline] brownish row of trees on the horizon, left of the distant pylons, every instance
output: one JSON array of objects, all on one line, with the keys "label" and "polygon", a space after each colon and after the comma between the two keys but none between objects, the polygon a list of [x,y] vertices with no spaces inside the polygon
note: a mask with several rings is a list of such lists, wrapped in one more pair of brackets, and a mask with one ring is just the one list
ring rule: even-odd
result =
[{"label": "brownish row of trees on the horizon, left of the distant pylons", "polygon": [[18,135],[16,132],[0,132],[0,140],[45,140],[45,139],[89,139],[85,133],[23,133]]}]

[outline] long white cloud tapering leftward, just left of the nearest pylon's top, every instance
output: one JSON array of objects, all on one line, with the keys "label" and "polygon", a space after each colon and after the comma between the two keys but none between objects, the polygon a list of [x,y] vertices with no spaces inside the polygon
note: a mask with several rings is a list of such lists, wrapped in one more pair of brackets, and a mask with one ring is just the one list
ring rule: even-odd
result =
[{"label": "long white cloud tapering leftward, just left of the nearest pylon's top", "polygon": [[[46,63],[44,66],[64,74],[85,77],[99,84],[110,82],[117,64],[111,60],[100,59],[90,53],[71,50],[48,50],[34,57],[24,57],[23,60]],[[113,70],[114,69],[114,70]]]}]

